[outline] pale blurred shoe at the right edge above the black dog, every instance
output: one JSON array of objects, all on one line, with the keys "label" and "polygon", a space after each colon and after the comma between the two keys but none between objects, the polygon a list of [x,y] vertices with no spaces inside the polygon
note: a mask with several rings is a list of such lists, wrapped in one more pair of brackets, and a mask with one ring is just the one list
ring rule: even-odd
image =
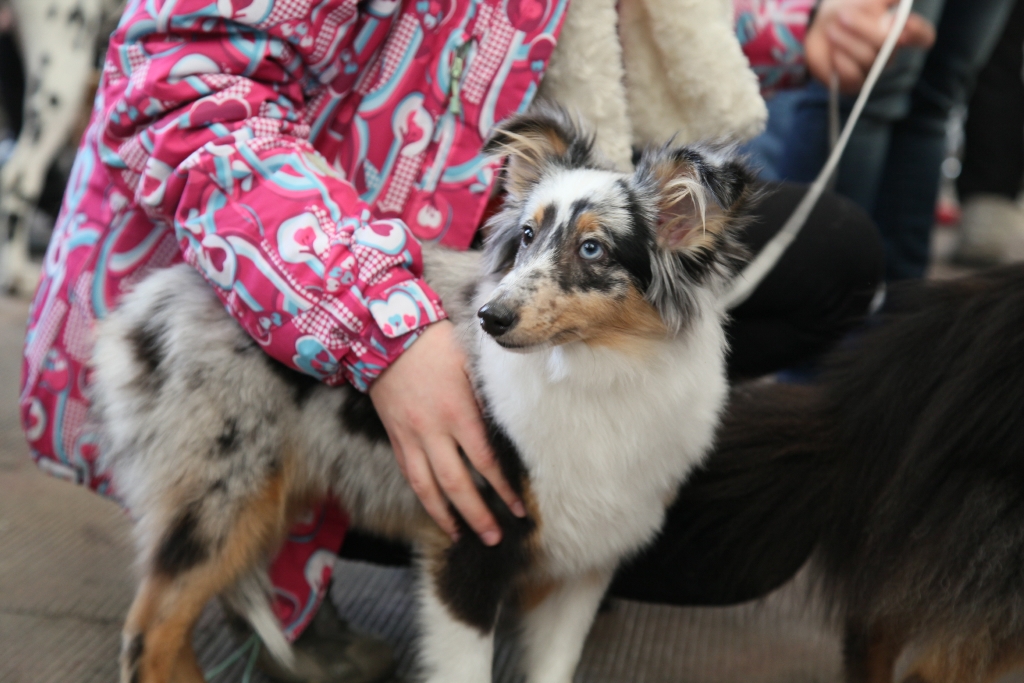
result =
[{"label": "pale blurred shoe at the right edge above the black dog", "polygon": [[1024,209],[998,195],[971,197],[952,260],[981,267],[1024,260]]}]

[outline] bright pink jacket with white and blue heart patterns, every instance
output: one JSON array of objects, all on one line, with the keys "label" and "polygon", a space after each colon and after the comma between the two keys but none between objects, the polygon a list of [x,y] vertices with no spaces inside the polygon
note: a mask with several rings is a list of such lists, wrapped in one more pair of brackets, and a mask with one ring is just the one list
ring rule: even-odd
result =
[{"label": "bright pink jacket with white and blue heart patterns", "polygon": [[[441,319],[419,240],[468,247],[496,122],[537,91],[567,0],[131,0],[30,313],[20,407],[51,473],[117,497],[88,428],[93,323],[184,260],[264,350],[366,390]],[[336,506],[271,568],[292,636]]]}]

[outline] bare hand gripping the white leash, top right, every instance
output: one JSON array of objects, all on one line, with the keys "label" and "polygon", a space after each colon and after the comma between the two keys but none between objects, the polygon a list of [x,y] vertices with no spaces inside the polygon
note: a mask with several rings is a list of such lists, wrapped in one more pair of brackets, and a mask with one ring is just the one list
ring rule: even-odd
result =
[{"label": "bare hand gripping the white leash, top right", "polygon": [[[898,0],[822,0],[805,40],[811,74],[822,83],[828,83],[835,74],[840,91],[856,94],[892,28],[890,10],[897,3]],[[929,48],[934,42],[935,27],[921,14],[912,13],[897,45]]]}]

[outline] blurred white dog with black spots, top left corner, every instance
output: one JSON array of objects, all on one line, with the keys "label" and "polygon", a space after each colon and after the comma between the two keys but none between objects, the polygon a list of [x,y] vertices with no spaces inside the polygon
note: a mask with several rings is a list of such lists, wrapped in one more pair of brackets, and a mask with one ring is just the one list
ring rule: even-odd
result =
[{"label": "blurred white dog with black spots, top left corner", "polygon": [[[26,71],[25,114],[13,152],[0,168],[0,288],[31,294],[39,278],[29,259],[29,226],[46,173],[72,140],[123,0],[8,0]],[[105,31],[105,33],[104,33]]]}]

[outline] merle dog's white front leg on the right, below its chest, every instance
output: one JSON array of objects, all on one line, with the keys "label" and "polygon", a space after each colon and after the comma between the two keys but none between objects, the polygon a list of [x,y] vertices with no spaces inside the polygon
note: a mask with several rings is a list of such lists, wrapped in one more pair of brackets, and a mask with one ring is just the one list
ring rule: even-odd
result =
[{"label": "merle dog's white front leg on the right, below its chest", "polygon": [[527,683],[571,683],[611,574],[610,570],[592,571],[541,588],[539,601],[524,605],[522,637]]}]

